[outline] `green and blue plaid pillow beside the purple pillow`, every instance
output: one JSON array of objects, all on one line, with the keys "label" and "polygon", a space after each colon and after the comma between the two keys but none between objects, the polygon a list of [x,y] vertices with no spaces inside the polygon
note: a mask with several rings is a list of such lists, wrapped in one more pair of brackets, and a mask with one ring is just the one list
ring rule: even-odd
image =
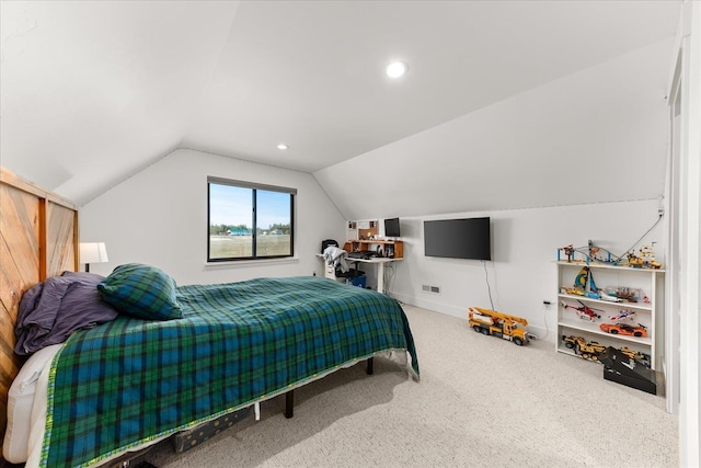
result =
[{"label": "green and blue plaid pillow beside the purple pillow", "polygon": [[146,320],[182,319],[175,281],[156,266],[119,265],[97,284],[102,298],[119,312]]}]

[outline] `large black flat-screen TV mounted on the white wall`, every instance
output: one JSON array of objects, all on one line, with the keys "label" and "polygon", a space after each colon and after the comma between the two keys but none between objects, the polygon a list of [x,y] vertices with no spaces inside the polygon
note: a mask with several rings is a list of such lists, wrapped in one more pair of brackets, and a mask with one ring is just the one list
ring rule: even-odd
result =
[{"label": "large black flat-screen TV mounted on the white wall", "polygon": [[447,259],[492,260],[490,218],[424,221],[424,254]]}]

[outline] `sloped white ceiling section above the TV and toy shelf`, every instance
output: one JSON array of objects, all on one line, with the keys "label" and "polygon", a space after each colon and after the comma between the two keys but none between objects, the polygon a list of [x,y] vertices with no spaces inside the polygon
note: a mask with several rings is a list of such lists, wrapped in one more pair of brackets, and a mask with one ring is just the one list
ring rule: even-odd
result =
[{"label": "sloped white ceiling section above the TV and toy shelf", "polygon": [[348,219],[655,198],[673,47],[634,50],[314,176]]}]

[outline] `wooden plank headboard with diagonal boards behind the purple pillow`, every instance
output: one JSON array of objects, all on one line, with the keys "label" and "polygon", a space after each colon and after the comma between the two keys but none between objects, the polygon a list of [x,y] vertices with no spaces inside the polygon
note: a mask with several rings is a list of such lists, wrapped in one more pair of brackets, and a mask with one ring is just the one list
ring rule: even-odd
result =
[{"label": "wooden plank headboard with diagonal boards behind the purple pillow", "polygon": [[13,351],[20,299],[49,276],[78,271],[78,242],[77,205],[0,168],[0,437],[23,364]]}]

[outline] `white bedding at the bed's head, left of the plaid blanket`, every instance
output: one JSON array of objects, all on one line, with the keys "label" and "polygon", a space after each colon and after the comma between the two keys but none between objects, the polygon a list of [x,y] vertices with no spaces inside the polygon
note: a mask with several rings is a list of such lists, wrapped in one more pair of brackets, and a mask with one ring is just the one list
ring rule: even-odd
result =
[{"label": "white bedding at the bed's head, left of the plaid blanket", "polygon": [[2,455],[12,464],[26,461],[36,381],[44,369],[48,372],[51,359],[62,345],[53,344],[34,353],[12,380],[8,392],[8,429],[2,444]]}]

